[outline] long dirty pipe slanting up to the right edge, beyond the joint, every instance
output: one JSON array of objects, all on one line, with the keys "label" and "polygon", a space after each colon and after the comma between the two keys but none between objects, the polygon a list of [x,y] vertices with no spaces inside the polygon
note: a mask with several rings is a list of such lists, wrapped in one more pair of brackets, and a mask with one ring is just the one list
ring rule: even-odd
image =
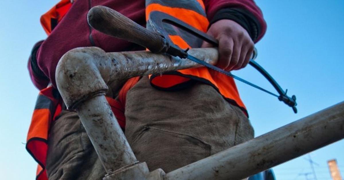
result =
[{"label": "long dirty pipe slanting up to the right edge, beyond the joint", "polygon": [[164,179],[243,179],[343,138],[344,101],[169,172]]}]

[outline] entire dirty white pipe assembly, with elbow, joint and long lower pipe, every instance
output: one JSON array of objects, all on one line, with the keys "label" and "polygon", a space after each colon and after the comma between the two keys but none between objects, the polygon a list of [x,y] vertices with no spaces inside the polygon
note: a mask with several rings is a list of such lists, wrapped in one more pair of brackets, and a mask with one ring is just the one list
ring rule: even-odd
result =
[{"label": "entire dirty white pipe assembly, with elbow, joint and long lower pipe", "polygon": [[[215,64],[217,50],[191,49]],[[243,179],[344,138],[344,102],[223,152],[176,169],[149,172],[139,163],[104,95],[108,82],[198,67],[184,59],[148,51],[105,53],[96,47],[67,52],[56,83],[67,107],[76,109],[108,176],[104,179]]]}]

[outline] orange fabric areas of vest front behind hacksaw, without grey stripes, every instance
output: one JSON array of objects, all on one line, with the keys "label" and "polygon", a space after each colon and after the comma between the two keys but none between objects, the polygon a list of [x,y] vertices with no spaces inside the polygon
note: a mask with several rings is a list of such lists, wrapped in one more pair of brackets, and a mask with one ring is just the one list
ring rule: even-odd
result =
[{"label": "orange fabric areas of vest front behind hacksaw, without grey stripes", "polygon": [[[197,2],[200,3],[202,8],[204,9],[203,1],[197,0]],[[146,19],[148,18],[149,13],[155,10],[174,16],[177,19],[203,32],[206,32],[207,27],[209,25],[209,22],[206,19],[206,17],[204,17],[201,14],[198,14],[195,11],[187,10],[183,8],[166,7],[160,4],[156,4],[156,3],[152,3],[147,6]],[[178,45],[180,48],[182,49],[191,48],[186,43],[186,41],[183,40],[180,36],[169,35],[169,37],[172,40],[172,42]],[[235,82],[232,77],[226,76],[222,73],[218,73],[211,69],[207,69],[205,67],[179,70],[178,72],[184,75],[194,76],[196,79],[201,78],[199,79],[201,81],[202,79],[204,79],[207,82],[210,82],[218,89],[219,93],[221,93],[224,97],[233,99],[234,101],[236,101],[238,106],[246,109],[246,107],[244,106],[244,103],[240,99],[239,93],[237,91]],[[151,78],[151,76],[149,77]],[[186,82],[187,80],[190,80],[190,79],[187,77],[181,77],[178,75],[164,74],[162,76],[155,76],[153,79],[151,79],[151,83],[162,88],[169,88],[177,84]]]}]

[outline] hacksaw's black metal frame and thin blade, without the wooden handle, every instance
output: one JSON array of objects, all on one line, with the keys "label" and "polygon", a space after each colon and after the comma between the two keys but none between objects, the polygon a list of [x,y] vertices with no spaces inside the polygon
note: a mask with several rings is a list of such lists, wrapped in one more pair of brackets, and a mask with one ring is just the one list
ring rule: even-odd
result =
[{"label": "hacksaw's black metal frame and thin blade, without the wooden handle", "polygon": [[294,113],[297,113],[297,103],[296,103],[296,96],[292,95],[292,97],[287,96],[287,90],[284,91],[280,85],[272,78],[272,76],[264,69],[262,68],[256,61],[254,61],[254,59],[257,57],[257,50],[254,50],[254,54],[252,55],[251,60],[249,61],[249,64],[254,67],[256,70],[258,70],[271,84],[272,86],[276,89],[276,91],[278,92],[279,95],[276,95],[274,93],[271,93],[270,91],[267,91],[264,88],[261,88],[253,83],[250,83],[236,75],[233,75],[230,72],[224,71],[212,64],[206,63],[204,61],[201,61],[189,54],[187,54],[187,50],[183,50],[181,48],[179,48],[178,46],[174,45],[171,41],[171,39],[168,36],[168,33],[165,31],[165,29],[163,28],[163,23],[167,23],[170,25],[173,25],[175,27],[178,27],[192,35],[194,35],[195,37],[198,37],[204,41],[207,41],[208,43],[214,45],[215,47],[218,47],[218,42],[216,39],[214,39],[213,37],[205,34],[204,32],[199,31],[198,29],[195,29],[194,27],[184,23],[183,21],[180,21],[179,19],[176,19],[173,16],[170,16],[168,14],[165,14],[163,12],[160,11],[154,11],[151,12],[150,16],[149,16],[149,21],[150,21],[150,25],[152,26],[152,28],[154,29],[155,32],[161,34],[164,36],[164,38],[167,40],[167,42],[169,43],[169,48],[166,51],[167,53],[169,53],[172,56],[178,56],[180,58],[187,58],[190,59],[194,62],[197,62],[199,64],[204,65],[207,68],[211,68],[215,71],[221,72],[223,74],[226,74],[228,76],[233,77],[234,79],[241,81],[243,83],[246,83],[252,87],[255,87],[261,91],[264,91],[272,96],[276,96],[278,97],[278,99],[280,101],[283,101],[285,104],[287,104],[288,106],[290,106]]}]

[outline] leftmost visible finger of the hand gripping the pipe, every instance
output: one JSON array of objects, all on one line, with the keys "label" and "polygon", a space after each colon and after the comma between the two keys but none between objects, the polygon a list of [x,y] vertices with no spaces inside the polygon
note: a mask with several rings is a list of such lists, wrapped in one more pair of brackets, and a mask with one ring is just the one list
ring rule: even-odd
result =
[{"label": "leftmost visible finger of the hand gripping the pipe", "polygon": [[232,59],[234,41],[232,38],[229,38],[228,36],[222,36],[219,38],[218,43],[219,60],[216,66],[221,69],[226,69],[229,66],[230,61]]}]

